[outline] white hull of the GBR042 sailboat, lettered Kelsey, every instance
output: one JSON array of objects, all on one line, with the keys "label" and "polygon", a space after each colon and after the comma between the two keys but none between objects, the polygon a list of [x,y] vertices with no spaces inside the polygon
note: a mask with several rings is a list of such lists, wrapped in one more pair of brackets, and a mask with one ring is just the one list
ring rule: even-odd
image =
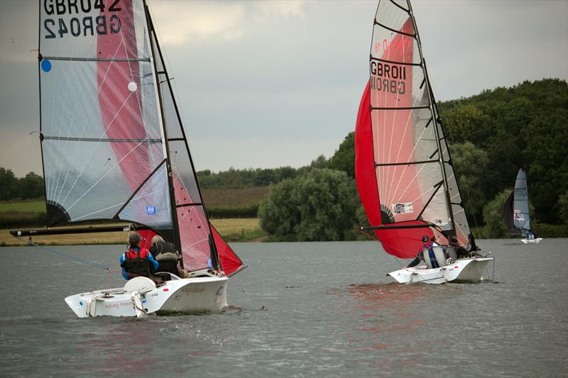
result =
[{"label": "white hull of the GBR042 sailboat, lettered Kelsey", "polygon": [[173,278],[156,286],[151,279],[136,277],[122,288],[67,296],[65,302],[80,318],[204,313],[226,307],[228,277]]}]

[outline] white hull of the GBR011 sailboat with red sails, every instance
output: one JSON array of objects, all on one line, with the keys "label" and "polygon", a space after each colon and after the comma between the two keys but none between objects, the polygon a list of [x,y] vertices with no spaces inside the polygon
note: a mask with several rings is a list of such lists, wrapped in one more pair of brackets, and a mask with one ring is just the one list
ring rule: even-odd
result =
[{"label": "white hull of the GBR011 sailboat with red sails", "polygon": [[387,275],[401,284],[476,283],[483,280],[482,274],[490,261],[493,261],[493,257],[459,259],[444,267],[427,269],[425,266],[418,266],[396,270]]}]

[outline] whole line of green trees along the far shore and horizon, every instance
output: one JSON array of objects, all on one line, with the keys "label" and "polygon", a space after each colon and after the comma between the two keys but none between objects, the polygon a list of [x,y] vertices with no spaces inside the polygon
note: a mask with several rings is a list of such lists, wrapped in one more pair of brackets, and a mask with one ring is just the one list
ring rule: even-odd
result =
[{"label": "whole line of green trees along the far shore and horizon", "polygon": [[[444,101],[438,107],[471,225],[486,225],[486,237],[506,235],[504,193],[513,189],[520,167],[528,176],[532,223],[567,224],[565,80],[526,81]],[[197,177],[202,189],[271,185],[258,216],[268,233],[283,240],[344,240],[352,237],[349,229],[366,222],[354,184],[354,147],[351,132],[334,155],[320,155],[305,167],[230,168],[217,173],[206,169]],[[0,169],[1,199],[43,196],[43,180],[37,174],[17,179],[9,169]],[[344,219],[337,218],[338,209]]]}]

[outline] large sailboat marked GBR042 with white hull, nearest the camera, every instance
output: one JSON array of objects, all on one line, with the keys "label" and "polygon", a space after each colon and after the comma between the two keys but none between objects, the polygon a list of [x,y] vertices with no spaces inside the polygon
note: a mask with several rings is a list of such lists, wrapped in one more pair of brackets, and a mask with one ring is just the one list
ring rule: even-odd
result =
[{"label": "large sailboat marked GBR042 with white hull, nearest the camera", "polygon": [[[65,298],[81,318],[222,310],[244,265],[209,223],[146,1],[40,3],[48,228],[11,233],[136,230],[143,247],[160,235],[178,248],[189,278],[135,277]],[[63,224],[74,227],[53,228]]]}]

